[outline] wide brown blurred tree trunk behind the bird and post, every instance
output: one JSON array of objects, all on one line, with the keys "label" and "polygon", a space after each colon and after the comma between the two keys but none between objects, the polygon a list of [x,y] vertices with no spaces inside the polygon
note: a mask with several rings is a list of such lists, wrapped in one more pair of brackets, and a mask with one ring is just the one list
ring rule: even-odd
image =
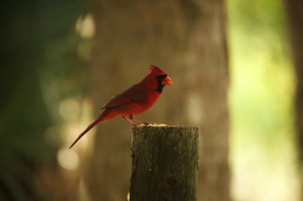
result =
[{"label": "wide brown blurred tree trunk behind the bird and post", "polygon": [[[148,64],[165,69],[174,85],[138,118],[199,126],[203,150],[198,200],[229,200],[225,3],[131,2],[92,1],[93,108],[141,80]],[[125,200],[130,147],[126,122],[115,119],[98,126],[87,179],[93,200]]]}]

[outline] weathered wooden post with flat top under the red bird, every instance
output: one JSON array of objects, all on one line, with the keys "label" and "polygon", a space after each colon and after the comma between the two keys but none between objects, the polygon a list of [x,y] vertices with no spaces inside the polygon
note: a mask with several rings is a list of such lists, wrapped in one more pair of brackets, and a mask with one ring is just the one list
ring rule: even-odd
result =
[{"label": "weathered wooden post with flat top under the red bird", "polygon": [[197,200],[198,140],[195,127],[133,128],[130,200]]}]

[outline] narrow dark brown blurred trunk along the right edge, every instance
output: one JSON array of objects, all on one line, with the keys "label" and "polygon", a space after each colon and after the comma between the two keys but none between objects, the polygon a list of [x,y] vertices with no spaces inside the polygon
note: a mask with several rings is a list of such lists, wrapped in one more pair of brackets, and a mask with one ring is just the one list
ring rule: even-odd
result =
[{"label": "narrow dark brown blurred trunk along the right edge", "polygon": [[[297,75],[295,123],[297,127],[298,157],[300,160],[300,174],[303,187],[303,4],[300,0],[286,0],[286,4],[289,15],[293,63],[295,74]],[[303,200],[303,195],[301,200]]]}]

